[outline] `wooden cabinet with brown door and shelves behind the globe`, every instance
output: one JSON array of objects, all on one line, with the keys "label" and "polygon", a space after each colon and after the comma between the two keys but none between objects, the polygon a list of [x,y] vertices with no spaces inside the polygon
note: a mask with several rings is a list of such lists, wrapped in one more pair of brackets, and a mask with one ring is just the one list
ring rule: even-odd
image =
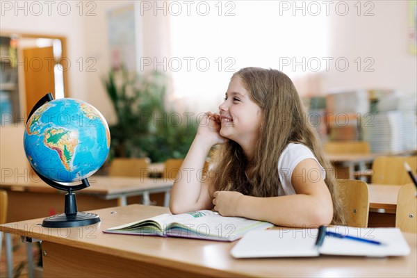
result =
[{"label": "wooden cabinet with brown door and shelves behind the globe", "polygon": [[26,122],[34,104],[49,92],[69,97],[65,37],[1,33],[0,56],[1,126]]}]

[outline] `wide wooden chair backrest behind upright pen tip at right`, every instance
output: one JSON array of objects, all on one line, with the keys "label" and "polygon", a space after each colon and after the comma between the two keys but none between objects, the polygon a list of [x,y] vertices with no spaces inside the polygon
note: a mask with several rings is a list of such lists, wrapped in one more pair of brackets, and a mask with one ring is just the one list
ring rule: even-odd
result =
[{"label": "wide wooden chair backrest behind upright pen tip at right", "polygon": [[417,156],[377,156],[372,165],[372,183],[400,185],[411,183],[404,162],[407,162],[412,172],[416,173]]}]

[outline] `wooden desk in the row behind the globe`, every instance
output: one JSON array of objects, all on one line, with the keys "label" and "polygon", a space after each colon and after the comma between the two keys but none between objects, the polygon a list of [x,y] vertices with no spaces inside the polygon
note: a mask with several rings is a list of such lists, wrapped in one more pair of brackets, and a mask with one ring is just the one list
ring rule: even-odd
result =
[{"label": "wooden desk in the row behind the globe", "polygon": [[[124,206],[127,198],[142,196],[150,204],[149,194],[165,193],[164,205],[170,199],[173,182],[168,179],[92,176],[90,187],[76,191],[79,211]],[[0,188],[8,191],[8,221],[15,222],[63,213],[64,191],[56,190],[39,177],[2,177]],[[140,202],[133,199],[133,202]],[[36,208],[36,209],[33,209]]]}]

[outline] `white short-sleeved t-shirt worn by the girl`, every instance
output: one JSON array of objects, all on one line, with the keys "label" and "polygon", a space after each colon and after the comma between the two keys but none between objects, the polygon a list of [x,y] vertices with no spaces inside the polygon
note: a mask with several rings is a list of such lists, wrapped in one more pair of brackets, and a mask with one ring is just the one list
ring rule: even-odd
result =
[{"label": "white short-sleeved t-shirt worn by the girl", "polygon": [[313,152],[302,144],[290,143],[286,146],[284,151],[282,151],[278,160],[278,174],[279,180],[281,181],[281,185],[278,188],[278,196],[295,194],[293,184],[291,183],[291,175],[293,174],[295,166],[307,158],[313,158],[317,161],[320,167],[322,179],[325,179],[325,169],[322,165],[320,165]]}]

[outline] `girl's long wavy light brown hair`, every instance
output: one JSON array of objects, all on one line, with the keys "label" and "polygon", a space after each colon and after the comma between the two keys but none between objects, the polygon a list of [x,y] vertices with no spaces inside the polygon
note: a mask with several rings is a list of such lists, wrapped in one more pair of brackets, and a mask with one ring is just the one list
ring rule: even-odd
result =
[{"label": "girl's long wavy light brown hair", "polygon": [[239,76],[250,99],[263,113],[259,142],[249,161],[238,143],[229,140],[213,152],[215,190],[238,191],[256,197],[275,197],[281,183],[278,160],[291,143],[305,145],[325,168],[325,183],[333,200],[333,224],[343,224],[341,201],[336,197],[336,178],[326,158],[318,135],[309,124],[300,96],[291,79],[283,72],[258,67],[246,67],[231,78]]}]

